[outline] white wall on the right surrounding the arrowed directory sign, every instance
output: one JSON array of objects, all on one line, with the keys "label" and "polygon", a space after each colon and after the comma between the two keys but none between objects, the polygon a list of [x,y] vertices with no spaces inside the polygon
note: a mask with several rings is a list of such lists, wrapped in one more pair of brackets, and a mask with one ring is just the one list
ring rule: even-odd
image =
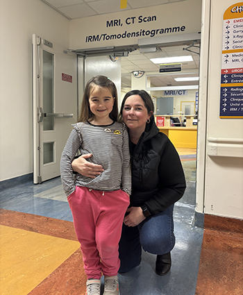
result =
[{"label": "white wall on the right surrounding the arrowed directory sign", "polygon": [[[243,157],[240,153],[236,157],[235,151],[237,151],[237,142],[243,138],[243,119],[219,118],[223,15],[224,11],[234,3],[235,0],[203,1],[204,12],[208,10],[210,15],[205,13],[202,20],[204,35],[201,64],[207,62],[207,65],[203,65],[200,73],[202,82],[199,89],[199,126],[201,127],[199,127],[197,183],[203,181],[202,174],[204,172],[206,177],[205,183],[199,183],[199,187],[197,187],[197,202],[199,212],[203,210],[208,214],[242,219]],[[242,13],[240,17],[242,17]],[[209,39],[208,36],[210,36]],[[208,80],[206,80],[207,76]],[[207,118],[205,113],[208,114]],[[203,130],[205,120],[207,128]],[[200,134],[200,130],[202,134]],[[203,140],[203,134],[206,136],[205,140]],[[218,140],[226,139],[222,144],[214,146],[215,151],[219,151],[220,147],[224,153],[218,152],[217,155],[212,155],[209,141],[212,137]],[[228,140],[232,141],[231,144],[226,143]],[[205,170],[201,161],[204,145],[206,145]],[[203,198],[205,200],[204,208],[202,206]]]}]

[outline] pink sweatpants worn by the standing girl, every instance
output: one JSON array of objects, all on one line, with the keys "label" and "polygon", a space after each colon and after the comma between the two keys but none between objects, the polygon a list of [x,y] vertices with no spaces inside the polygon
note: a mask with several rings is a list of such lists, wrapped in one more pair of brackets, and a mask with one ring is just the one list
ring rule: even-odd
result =
[{"label": "pink sweatpants worn by the standing girl", "polygon": [[124,214],[130,203],[121,189],[103,192],[76,187],[68,197],[74,228],[83,253],[87,278],[116,276],[119,270],[118,243]]}]

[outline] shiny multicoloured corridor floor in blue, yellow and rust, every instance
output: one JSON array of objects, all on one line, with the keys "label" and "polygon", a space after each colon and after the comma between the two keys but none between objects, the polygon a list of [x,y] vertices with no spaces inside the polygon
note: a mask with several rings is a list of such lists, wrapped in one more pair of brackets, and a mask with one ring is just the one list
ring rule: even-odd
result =
[{"label": "shiny multicoloured corridor floor in blue, yellow and rust", "polygon": [[[242,295],[242,221],[194,218],[196,150],[178,149],[187,189],[175,204],[176,246],[167,276],[156,256],[119,275],[121,295]],[[7,180],[0,187],[1,295],[84,295],[86,277],[72,214],[60,178],[41,185]],[[200,260],[201,257],[201,260]]]}]

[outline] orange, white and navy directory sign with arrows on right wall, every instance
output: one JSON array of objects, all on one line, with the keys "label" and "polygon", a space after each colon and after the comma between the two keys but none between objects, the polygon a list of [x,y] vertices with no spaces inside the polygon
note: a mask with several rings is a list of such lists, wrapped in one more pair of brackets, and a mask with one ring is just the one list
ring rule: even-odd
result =
[{"label": "orange, white and navy directory sign with arrows on right wall", "polygon": [[220,118],[243,118],[243,2],[224,12]]}]

